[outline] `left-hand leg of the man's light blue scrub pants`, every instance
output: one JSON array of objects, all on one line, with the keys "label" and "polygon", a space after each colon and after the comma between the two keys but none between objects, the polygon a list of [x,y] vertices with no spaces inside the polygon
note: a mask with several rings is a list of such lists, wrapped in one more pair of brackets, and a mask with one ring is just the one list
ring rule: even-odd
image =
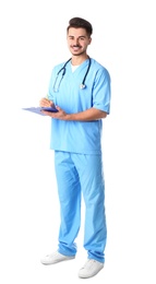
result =
[{"label": "left-hand leg of the man's light blue scrub pants", "polygon": [[81,222],[81,187],[79,174],[71,154],[55,152],[55,168],[60,202],[60,230],[58,251],[64,256],[75,256],[74,242]]}]

